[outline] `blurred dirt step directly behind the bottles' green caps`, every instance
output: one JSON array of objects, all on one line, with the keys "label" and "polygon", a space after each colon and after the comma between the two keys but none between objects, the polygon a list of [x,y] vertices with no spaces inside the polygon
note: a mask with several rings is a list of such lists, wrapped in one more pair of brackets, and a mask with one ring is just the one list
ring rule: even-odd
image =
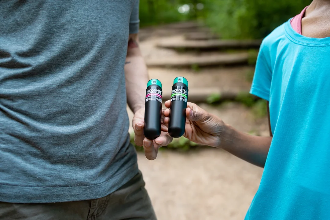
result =
[{"label": "blurred dirt step directly behind the bottles' green caps", "polygon": [[208,68],[196,73],[192,70],[151,68],[149,77],[162,82],[164,101],[171,97],[173,80],[181,76],[189,83],[188,100],[205,102],[213,94],[220,94],[221,99],[235,99],[240,93],[248,93],[251,83],[246,76],[253,70],[253,67]]}]

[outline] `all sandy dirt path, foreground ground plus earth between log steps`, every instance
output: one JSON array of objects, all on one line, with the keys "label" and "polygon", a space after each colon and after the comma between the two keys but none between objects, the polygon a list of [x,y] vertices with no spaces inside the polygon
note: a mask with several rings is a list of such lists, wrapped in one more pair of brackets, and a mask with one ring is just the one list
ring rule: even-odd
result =
[{"label": "all sandy dirt path, foreground ground plus earth between log steps", "polygon": [[[185,28],[182,28],[182,25]],[[189,61],[191,57],[197,57],[194,62],[198,63],[200,61],[198,59],[205,56],[217,56],[222,53],[221,51],[182,53],[182,51],[157,47],[161,41],[176,42],[177,39],[184,39],[183,34],[196,31],[196,24],[179,24],[180,28],[177,26],[168,25],[142,30],[140,46],[149,66],[154,60]],[[180,68],[168,68],[163,65],[163,68],[149,68],[149,75],[162,81],[164,97],[170,95],[175,77],[186,77],[189,81],[189,97],[191,97],[194,92],[199,94],[202,90],[207,90],[210,94],[215,91],[222,95],[247,93],[250,82],[247,81],[246,76],[251,71],[253,68],[248,66],[230,68],[214,66],[193,70],[192,66],[187,65],[182,65]],[[251,109],[243,104],[227,103],[221,106],[200,104],[200,106],[240,131],[261,136],[269,134],[267,118],[256,118]],[[130,110],[128,113],[131,120],[133,114]],[[133,132],[132,128],[130,132]],[[163,150],[159,152],[155,161],[148,161],[140,152],[138,163],[144,174],[146,188],[158,220],[243,220],[263,171],[223,150],[213,148],[186,153]]]}]

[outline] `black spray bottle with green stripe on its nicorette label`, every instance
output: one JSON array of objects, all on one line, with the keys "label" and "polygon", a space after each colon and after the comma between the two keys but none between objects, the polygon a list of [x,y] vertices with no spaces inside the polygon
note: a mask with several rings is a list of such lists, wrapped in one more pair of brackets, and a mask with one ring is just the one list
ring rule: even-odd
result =
[{"label": "black spray bottle with green stripe on its nicorette label", "polygon": [[185,110],[188,99],[188,81],[183,77],[174,79],[171,95],[170,121],[168,133],[173,138],[179,138],[185,131]]}]

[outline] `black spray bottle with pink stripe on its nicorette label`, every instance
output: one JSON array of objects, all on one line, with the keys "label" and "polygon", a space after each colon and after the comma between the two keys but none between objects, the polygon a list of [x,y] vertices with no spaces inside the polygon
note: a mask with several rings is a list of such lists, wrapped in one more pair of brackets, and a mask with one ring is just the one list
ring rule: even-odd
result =
[{"label": "black spray bottle with pink stripe on its nicorette label", "polygon": [[158,79],[150,79],[147,84],[145,122],[143,132],[149,140],[160,136],[162,123],[162,83]]}]

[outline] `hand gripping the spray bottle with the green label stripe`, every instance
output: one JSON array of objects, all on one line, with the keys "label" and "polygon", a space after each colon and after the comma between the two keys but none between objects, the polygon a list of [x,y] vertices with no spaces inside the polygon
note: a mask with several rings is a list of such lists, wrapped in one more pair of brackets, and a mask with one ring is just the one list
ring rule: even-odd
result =
[{"label": "hand gripping the spray bottle with the green label stripe", "polygon": [[[171,107],[171,100],[165,102],[165,107]],[[223,121],[212,115],[194,103],[187,103],[186,124],[183,136],[198,144],[219,147],[221,143],[220,134],[224,127]],[[164,123],[169,123],[170,110],[163,112]]]}]

